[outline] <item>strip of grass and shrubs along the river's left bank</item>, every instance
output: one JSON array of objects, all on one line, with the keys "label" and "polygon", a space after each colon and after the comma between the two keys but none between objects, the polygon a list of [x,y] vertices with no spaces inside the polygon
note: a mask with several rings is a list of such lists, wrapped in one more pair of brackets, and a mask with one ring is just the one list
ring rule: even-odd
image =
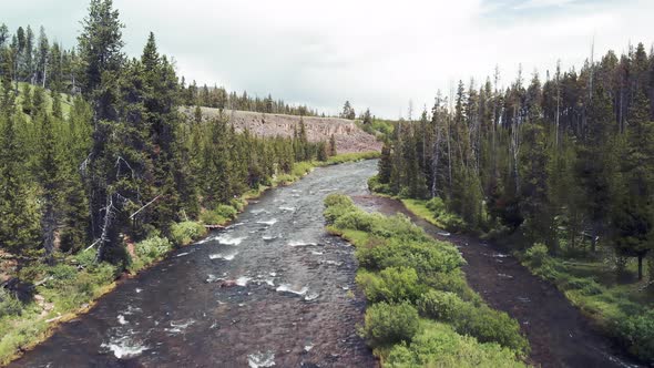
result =
[{"label": "strip of grass and shrubs along the river's left bank", "polygon": [[269,185],[245,192],[232,205],[218,205],[213,211],[203,209],[196,221],[173,224],[170,238],[152,235],[137,243],[126,242],[131,262],[124,270],[109,263],[96,264],[94,248],[67,256],[54,266],[39,260],[25,265],[17,276],[22,283],[34,285],[34,298],[28,304],[4,295],[0,298],[0,366],[20,358],[24,351],[48,339],[60,324],[91,310],[121,279],[136,277],[140,272],[168,257],[174,249],[207,236],[210,229],[205,225],[225,226],[236,219],[238,213],[245,211],[248,201],[262,196],[268,190],[290,185],[315,167],[377,157],[378,152],[361,152],[337,154],[324,162],[295,163],[290,173],[276,175]]}]

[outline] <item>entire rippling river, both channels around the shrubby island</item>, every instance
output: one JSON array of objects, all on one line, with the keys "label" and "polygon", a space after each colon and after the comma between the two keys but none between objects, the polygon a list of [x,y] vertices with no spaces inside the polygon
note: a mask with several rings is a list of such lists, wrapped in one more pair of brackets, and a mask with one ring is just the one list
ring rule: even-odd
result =
[{"label": "entire rippling river, both channels around the shrubby island", "polygon": [[[368,195],[376,168],[376,161],[317,168],[269,191],[227,229],[120,283],[11,367],[376,367],[357,336],[365,301],[354,249],[326,234],[323,218],[334,192],[367,211],[408,214]],[[470,286],[518,319],[532,347],[528,362],[637,367],[511,255],[411,217],[454,243]]]}]

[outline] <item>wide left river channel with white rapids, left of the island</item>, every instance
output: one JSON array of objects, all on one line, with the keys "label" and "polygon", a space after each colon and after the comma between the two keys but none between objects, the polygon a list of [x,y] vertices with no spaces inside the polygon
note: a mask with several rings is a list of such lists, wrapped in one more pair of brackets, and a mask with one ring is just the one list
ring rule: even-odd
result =
[{"label": "wide left river channel with white rapids, left of the island", "polygon": [[356,262],[323,200],[361,195],[376,162],[317,168],[226,231],[174,252],[12,367],[372,367]]}]

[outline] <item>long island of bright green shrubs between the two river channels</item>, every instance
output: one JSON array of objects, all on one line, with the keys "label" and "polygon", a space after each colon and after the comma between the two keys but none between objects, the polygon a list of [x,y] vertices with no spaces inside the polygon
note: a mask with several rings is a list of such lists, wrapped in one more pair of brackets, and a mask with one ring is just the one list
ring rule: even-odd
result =
[{"label": "long island of bright green shrubs between the two river channels", "polygon": [[521,367],[518,321],[466,283],[452,244],[401,215],[368,214],[344,195],[325,201],[328,229],[356,246],[368,309],[361,336],[389,367]]}]

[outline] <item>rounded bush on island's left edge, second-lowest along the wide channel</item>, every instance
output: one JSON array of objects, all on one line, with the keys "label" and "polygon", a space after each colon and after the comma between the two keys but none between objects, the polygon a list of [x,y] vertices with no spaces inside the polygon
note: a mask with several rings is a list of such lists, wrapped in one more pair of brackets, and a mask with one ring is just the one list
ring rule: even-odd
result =
[{"label": "rounded bush on island's left edge, second-lowest along the wide channel", "polygon": [[375,304],[366,310],[365,320],[362,335],[372,347],[410,341],[420,327],[418,310],[408,301]]}]

